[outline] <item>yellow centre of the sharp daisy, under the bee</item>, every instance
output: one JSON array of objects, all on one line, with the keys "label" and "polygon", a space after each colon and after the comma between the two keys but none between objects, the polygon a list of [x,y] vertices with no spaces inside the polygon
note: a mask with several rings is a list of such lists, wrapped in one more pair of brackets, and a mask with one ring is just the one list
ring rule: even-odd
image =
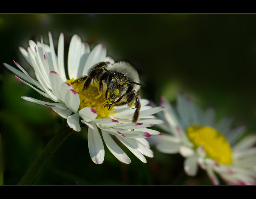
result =
[{"label": "yellow centre of the sharp daisy, under the bee", "polygon": [[72,78],[71,80],[67,80],[67,83],[71,84],[74,90],[79,95],[80,106],[78,108],[78,111],[84,107],[92,107],[97,112],[97,118],[109,118],[110,115],[113,115],[114,108],[111,107],[110,110],[108,110],[108,106],[105,107],[105,105],[108,105],[108,102],[114,101],[115,99],[106,100],[106,90],[102,90],[99,93],[99,84],[98,82],[94,81],[92,81],[92,83],[87,87],[86,90],[81,92],[83,90],[84,81],[85,80],[80,78],[76,80],[74,78]]}]

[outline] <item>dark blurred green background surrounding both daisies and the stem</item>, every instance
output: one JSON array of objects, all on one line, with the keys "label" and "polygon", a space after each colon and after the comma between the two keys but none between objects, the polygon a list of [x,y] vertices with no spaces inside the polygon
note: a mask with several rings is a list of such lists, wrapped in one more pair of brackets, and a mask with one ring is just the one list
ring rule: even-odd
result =
[{"label": "dark blurred green background surrounding both daisies and the stem", "polygon": [[[254,14],[0,14],[0,62],[23,68],[28,63],[18,51],[28,40],[48,42],[51,31],[57,46],[60,32],[66,48],[78,34],[91,49],[98,43],[107,55],[135,66],[141,95],[159,105],[164,95],[175,102],[185,93],[202,108],[214,107],[217,118],[233,118],[234,126],[256,129],[256,15]],[[67,51],[65,51],[67,52]],[[67,60],[65,60],[67,63]],[[31,72],[31,71],[30,71]],[[50,108],[22,100],[41,99],[0,67],[0,134],[3,153],[0,176],[16,184],[40,154],[63,119]],[[204,171],[194,178],[183,170],[179,154],[157,152],[140,162],[124,149],[132,162],[120,163],[105,147],[101,165],[92,162],[86,133],[74,132],[56,151],[34,184],[173,185],[211,184]],[[221,182],[223,183],[223,182]]]}]

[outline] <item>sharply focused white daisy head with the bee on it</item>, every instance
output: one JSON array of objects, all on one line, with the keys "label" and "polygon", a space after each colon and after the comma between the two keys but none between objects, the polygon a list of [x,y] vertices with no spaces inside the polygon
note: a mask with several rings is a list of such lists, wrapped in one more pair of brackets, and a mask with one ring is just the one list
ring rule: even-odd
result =
[{"label": "sharply focused white daisy head with the bee on it", "polygon": [[[145,139],[158,131],[148,129],[153,124],[163,123],[155,119],[153,114],[161,111],[163,107],[150,107],[148,100],[141,99],[140,116],[136,123],[132,123],[134,109],[128,105],[111,108],[104,107],[106,99],[104,95],[99,96],[98,85],[93,81],[88,89],[82,93],[81,85],[73,84],[75,79],[87,75],[88,70],[101,61],[114,60],[107,57],[106,47],[102,44],[95,46],[92,51],[87,43],[82,43],[78,35],[71,39],[68,51],[68,76],[64,68],[64,36],[61,33],[58,43],[58,55],[55,54],[52,35],[49,32],[50,46],[41,42],[29,41],[26,51],[20,47],[19,50],[30,66],[35,71],[35,77],[31,77],[17,62],[14,64],[17,70],[9,64],[4,66],[16,74],[16,79],[36,90],[41,96],[52,102],[37,100],[31,97],[21,97],[24,100],[34,102],[52,110],[67,119],[67,123],[74,131],[80,131],[79,124],[86,124],[88,128],[89,152],[94,163],[100,164],[104,160],[104,146],[102,138],[111,153],[121,162],[129,164],[130,158],[116,144],[113,136],[126,146],[142,162],[146,163],[145,156],[153,157],[148,141]],[[101,130],[101,135],[98,130]]]}]

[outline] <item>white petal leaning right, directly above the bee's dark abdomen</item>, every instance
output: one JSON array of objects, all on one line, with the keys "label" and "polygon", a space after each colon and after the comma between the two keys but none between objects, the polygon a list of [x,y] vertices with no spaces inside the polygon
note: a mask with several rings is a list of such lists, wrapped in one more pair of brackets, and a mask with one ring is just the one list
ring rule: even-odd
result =
[{"label": "white petal leaning right, directly above the bee's dark abdomen", "polygon": [[83,74],[87,74],[89,68],[91,68],[94,64],[99,63],[100,61],[104,61],[107,55],[107,49],[104,45],[98,44],[92,49],[86,64],[84,66]]}]

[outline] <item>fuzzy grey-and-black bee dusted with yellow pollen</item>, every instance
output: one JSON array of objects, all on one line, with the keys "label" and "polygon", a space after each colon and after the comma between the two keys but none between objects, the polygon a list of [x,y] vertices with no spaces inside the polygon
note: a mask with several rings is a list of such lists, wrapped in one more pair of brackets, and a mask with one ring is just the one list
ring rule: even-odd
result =
[{"label": "fuzzy grey-and-black bee dusted with yellow pollen", "polygon": [[107,100],[105,107],[108,107],[108,110],[112,106],[135,104],[132,123],[138,121],[140,87],[146,85],[140,84],[139,74],[131,64],[124,61],[114,64],[111,64],[109,61],[99,62],[89,69],[88,75],[84,76],[83,79],[85,81],[81,92],[90,86],[93,79],[99,83],[99,93],[102,92],[105,86],[105,98]]}]

